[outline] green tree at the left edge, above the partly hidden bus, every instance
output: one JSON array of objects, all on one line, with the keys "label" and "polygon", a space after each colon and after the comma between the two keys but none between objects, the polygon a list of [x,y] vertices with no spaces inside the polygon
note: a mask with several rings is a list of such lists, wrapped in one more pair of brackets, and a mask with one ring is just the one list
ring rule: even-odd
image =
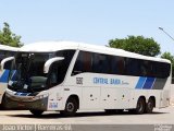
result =
[{"label": "green tree at the left edge, above the partly hidden bus", "polygon": [[4,27],[0,31],[0,44],[8,45],[12,47],[21,47],[23,44],[21,43],[21,36],[15,35],[11,32],[10,25],[8,23],[3,23]]}]

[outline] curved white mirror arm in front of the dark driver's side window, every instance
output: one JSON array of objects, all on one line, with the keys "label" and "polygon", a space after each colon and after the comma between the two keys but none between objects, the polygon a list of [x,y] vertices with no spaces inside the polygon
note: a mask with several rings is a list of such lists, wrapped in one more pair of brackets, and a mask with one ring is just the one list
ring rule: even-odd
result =
[{"label": "curved white mirror arm in front of the dark driver's side window", "polygon": [[63,57],[54,57],[54,58],[51,58],[51,59],[47,60],[46,63],[45,63],[45,67],[44,67],[44,73],[48,73],[51,64],[53,62],[57,62],[57,61],[60,61],[60,60],[64,60],[64,58]]}]

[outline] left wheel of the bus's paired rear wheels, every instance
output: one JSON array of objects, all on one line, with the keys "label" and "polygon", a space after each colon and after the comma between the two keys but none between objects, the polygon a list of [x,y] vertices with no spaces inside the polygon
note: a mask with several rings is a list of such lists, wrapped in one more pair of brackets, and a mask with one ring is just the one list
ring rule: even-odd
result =
[{"label": "left wheel of the bus's paired rear wheels", "polygon": [[135,114],[137,115],[141,115],[145,112],[145,108],[146,108],[146,102],[144,98],[139,98],[138,102],[137,102],[137,107],[135,109]]}]

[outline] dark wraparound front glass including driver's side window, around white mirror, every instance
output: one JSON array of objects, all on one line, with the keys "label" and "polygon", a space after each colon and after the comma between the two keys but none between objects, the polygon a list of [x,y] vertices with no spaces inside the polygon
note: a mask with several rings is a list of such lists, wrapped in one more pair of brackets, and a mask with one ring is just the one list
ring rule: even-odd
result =
[{"label": "dark wraparound front glass including driver's side window, around white mirror", "polygon": [[[18,52],[11,67],[8,87],[15,92],[39,92],[62,83],[74,52]],[[64,59],[53,62],[49,72],[44,73],[46,61],[54,57]]]}]

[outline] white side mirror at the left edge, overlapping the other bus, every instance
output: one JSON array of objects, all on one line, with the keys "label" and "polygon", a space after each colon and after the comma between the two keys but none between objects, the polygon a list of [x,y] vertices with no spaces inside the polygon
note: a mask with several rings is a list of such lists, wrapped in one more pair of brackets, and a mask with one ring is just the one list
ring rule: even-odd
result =
[{"label": "white side mirror at the left edge, overlapping the other bus", "polygon": [[4,70],[4,69],[10,70],[13,60],[14,60],[14,57],[4,58],[1,61],[1,70]]}]

